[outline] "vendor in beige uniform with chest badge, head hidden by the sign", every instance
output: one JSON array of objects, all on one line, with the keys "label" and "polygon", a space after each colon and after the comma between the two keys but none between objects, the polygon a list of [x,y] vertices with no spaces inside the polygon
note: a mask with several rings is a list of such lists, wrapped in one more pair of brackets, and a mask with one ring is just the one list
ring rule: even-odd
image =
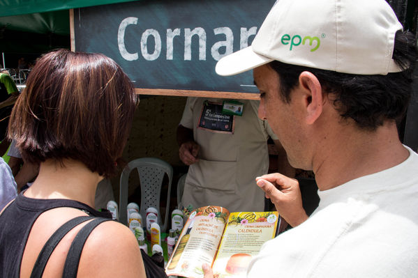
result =
[{"label": "vendor in beige uniform with chest badge, head hidden by the sign", "polygon": [[269,137],[278,148],[279,169],[294,175],[276,135],[257,117],[258,105],[257,100],[188,98],[177,128],[179,156],[189,165],[182,206],[263,211],[264,192],[255,177],[269,169]]}]

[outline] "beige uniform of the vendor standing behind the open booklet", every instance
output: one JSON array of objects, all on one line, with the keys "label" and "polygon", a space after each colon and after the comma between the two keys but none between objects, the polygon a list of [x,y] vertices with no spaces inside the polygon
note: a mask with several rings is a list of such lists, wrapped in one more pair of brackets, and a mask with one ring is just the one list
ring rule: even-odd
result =
[{"label": "beige uniform of the vendor standing behind the open booklet", "polygon": [[234,211],[264,210],[264,192],[255,177],[267,173],[269,155],[267,139],[277,139],[266,121],[257,117],[260,102],[244,103],[242,116],[234,118],[233,132],[216,132],[199,128],[204,103],[222,105],[222,99],[188,98],[180,124],[193,129],[200,151],[199,162],[188,169],[182,206],[223,206]]}]

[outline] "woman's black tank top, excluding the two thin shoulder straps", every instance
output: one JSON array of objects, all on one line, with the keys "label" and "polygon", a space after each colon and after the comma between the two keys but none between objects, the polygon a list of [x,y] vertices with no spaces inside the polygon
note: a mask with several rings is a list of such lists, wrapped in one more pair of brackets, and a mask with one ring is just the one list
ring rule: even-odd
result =
[{"label": "woman's black tank top, excluding the two thin shoulder straps", "polygon": [[84,203],[68,199],[31,199],[19,194],[0,215],[0,277],[20,277],[20,264],[29,232],[38,216],[52,208],[70,207],[90,216],[112,218]]}]

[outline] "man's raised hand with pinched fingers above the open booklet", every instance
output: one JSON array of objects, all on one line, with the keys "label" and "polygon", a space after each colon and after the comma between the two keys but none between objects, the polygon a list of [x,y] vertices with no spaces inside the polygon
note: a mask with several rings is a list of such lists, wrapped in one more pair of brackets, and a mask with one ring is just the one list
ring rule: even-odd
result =
[{"label": "man's raised hand with pinched fingers above the open booklet", "polygon": [[255,181],[290,226],[297,226],[308,219],[297,180],[281,173],[270,173],[255,178]]}]

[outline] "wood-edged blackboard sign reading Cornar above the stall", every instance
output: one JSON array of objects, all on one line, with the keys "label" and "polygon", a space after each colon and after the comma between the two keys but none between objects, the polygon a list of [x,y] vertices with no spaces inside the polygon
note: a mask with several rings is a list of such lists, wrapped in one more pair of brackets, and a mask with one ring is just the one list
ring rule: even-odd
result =
[{"label": "wood-edged blackboard sign reading Cornar above the stall", "polygon": [[221,77],[215,65],[251,45],[275,1],[143,0],[78,8],[75,51],[110,56],[136,88],[257,95],[251,71]]}]

